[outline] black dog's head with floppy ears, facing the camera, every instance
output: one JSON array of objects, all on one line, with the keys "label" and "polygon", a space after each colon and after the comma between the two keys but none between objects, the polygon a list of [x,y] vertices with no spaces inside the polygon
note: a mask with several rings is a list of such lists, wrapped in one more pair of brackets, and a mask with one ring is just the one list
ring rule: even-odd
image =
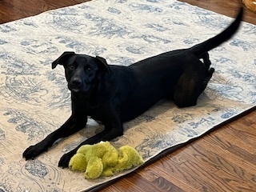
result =
[{"label": "black dog's head with floppy ears, facing the camera", "polygon": [[91,57],[86,54],[64,52],[52,63],[52,69],[57,65],[64,66],[68,88],[74,92],[88,92],[94,86],[98,74],[110,74],[110,67],[105,58]]}]

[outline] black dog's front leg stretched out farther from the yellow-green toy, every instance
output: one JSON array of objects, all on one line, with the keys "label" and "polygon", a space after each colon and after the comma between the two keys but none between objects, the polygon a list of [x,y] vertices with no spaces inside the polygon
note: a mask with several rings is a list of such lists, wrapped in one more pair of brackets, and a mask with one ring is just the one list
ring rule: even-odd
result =
[{"label": "black dog's front leg stretched out farther from the yellow-green toy", "polygon": [[48,148],[50,148],[50,146],[52,146],[59,138],[66,138],[71,134],[78,132],[78,130],[81,130],[86,126],[86,122],[86,117],[72,114],[70,118],[58,128],[58,130],[49,134],[42,140],[42,142],[38,142],[36,145],[28,147],[23,153],[23,158],[26,158],[26,160],[36,158],[39,154],[48,150]]}]

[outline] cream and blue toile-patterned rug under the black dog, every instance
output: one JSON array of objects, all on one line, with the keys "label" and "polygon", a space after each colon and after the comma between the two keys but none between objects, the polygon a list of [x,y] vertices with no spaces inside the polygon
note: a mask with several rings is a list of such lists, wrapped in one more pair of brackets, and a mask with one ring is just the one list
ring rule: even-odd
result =
[{"label": "cream and blue toile-patterned rug under the black dog", "polygon": [[[193,46],[231,21],[175,0],[94,0],[0,25],[0,191],[81,191],[122,176],[88,181],[82,173],[58,168],[62,154],[102,130],[92,120],[34,161],[22,158],[26,147],[70,115],[62,66],[51,70],[62,52],[100,55],[110,64],[128,66]],[[216,72],[198,106],[178,109],[161,102],[126,123],[114,146],[134,146],[147,161],[254,107],[255,39],[256,26],[243,23],[234,38],[210,51]]]}]

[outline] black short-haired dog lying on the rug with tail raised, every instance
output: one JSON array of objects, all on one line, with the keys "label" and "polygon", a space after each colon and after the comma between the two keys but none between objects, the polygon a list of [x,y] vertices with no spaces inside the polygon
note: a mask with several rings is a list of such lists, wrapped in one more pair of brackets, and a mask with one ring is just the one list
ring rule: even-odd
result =
[{"label": "black short-haired dog lying on the rug with tail raised", "polygon": [[[79,146],[122,135],[123,122],[136,118],[162,98],[173,99],[179,107],[196,105],[214,73],[207,51],[231,38],[238,30],[242,14],[241,8],[226,30],[206,42],[190,49],[146,58],[131,66],[109,66],[104,58],[98,56],[63,53],[52,63],[52,68],[58,64],[65,68],[66,81],[71,90],[72,114],[58,130],[27,148],[23,157],[35,158],[48,150],[58,138],[81,130],[86,126],[88,116],[102,122],[105,130]],[[58,166],[67,167],[78,147],[64,154]]]}]

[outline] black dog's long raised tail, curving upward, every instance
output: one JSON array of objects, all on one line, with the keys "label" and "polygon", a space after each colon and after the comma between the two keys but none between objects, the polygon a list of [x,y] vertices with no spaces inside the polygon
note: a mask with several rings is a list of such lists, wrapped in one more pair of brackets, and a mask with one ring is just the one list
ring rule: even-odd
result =
[{"label": "black dog's long raised tail, curving upward", "polygon": [[216,35],[214,38],[210,38],[205,42],[199,43],[196,46],[192,46],[190,50],[195,55],[200,57],[202,54],[206,53],[207,51],[212,50],[215,47],[221,45],[222,42],[226,42],[238,31],[238,28],[242,21],[242,16],[243,16],[243,8],[241,7],[238,13],[238,16],[235,18],[234,22],[232,22],[230,26],[226,28],[226,30],[223,30],[222,33]]}]

